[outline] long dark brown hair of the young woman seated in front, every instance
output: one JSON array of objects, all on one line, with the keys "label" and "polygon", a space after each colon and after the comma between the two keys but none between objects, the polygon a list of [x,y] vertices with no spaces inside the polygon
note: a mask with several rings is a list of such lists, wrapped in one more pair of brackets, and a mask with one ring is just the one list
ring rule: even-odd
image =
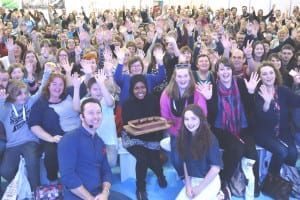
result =
[{"label": "long dark brown hair of the young woman seated in front", "polygon": [[[200,120],[200,124],[196,130],[196,133],[191,136],[192,137],[191,144],[188,144],[189,141],[188,135],[192,133],[184,125],[184,114],[187,111],[191,111]],[[198,105],[195,104],[188,105],[182,112],[181,130],[177,138],[177,149],[179,155],[183,159],[187,159],[189,157],[189,153],[191,153],[193,159],[201,159],[208,151],[211,142],[212,142],[212,132],[209,128],[209,124],[207,122],[203,110]]]}]

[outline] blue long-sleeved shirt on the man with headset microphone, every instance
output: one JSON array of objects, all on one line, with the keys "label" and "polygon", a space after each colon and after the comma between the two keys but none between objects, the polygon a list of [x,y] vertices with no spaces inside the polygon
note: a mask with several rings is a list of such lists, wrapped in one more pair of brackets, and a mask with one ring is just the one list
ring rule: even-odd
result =
[{"label": "blue long-sleeved shirt on the man with headset microphone", "polygon": [[91,194],[102,191],[102,183],[110,182],[112,173],[106,148],[100,137],[92,136],[82,126],[67,133],[58,144],[58,161],[64,199],[79,199],[70,190],[83,185]]}]

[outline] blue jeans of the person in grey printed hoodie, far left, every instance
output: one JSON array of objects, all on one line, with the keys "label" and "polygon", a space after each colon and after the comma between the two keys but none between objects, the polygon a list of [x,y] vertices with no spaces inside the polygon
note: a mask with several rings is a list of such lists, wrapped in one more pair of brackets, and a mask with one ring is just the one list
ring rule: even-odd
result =
[{"label": "blue jeans of the person in grey printed hoodie, far left", "polygon": [[6,148],[0,167],[0,174],[8,182],[11,182],[18,171],[20,155],[25,159],[27,177],[31,190],[34,191],[40,185],[40,151],[38,143],[27,142]]}]

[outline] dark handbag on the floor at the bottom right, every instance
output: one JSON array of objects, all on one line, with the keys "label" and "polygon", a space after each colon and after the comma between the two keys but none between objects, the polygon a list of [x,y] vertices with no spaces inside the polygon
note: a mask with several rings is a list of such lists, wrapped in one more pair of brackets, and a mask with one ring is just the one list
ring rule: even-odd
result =
[{"label": "dark handbag on the floor at the bottom right", "polygon": [[267,174],[262,185],[262,192],[276,200],[288,200],[292,189],[291,182],[271,173]]}]

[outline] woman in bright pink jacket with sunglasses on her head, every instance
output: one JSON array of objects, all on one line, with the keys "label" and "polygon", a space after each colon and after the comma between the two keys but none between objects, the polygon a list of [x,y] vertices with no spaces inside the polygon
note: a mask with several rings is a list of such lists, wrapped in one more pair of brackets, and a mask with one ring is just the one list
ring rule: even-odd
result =
[{"label": "woman in bright pink jacket with sunglasses on her head", "polygon": [[172,122],[168,129],[171,137],[171,161],[179,177],[184,177],[183,162],[179,158],[176,148],[176,136],[181,126],[181,115],[189,104],[199,105],[207,115],[206,101],[198,90],[195,80],[187,64],[175,65],[175,70],[168,86],[160,98],[161,116]]}]

